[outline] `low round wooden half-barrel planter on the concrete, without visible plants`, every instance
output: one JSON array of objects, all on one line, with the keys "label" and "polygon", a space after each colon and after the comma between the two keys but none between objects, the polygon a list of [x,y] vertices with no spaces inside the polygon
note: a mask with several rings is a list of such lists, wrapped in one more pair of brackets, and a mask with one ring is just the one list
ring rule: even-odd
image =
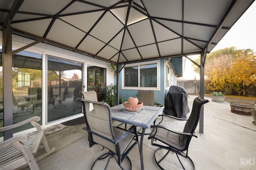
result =
[{"label": "low round wooden half-barrel planter on the concrete, without visible plants", "polygon": [[241,102],[230,102],[230,108],[232,113],[239,115],[252,116],[252,109],[255,109],[253,104],[241,103]]}]

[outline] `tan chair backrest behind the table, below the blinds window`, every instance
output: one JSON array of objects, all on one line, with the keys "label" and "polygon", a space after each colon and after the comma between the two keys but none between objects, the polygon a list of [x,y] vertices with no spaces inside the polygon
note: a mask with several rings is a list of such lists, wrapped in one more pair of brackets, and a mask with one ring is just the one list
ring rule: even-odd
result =
[{"label": "tan chair backrest behind the table, below the blinds window", "polygon": [[138,90],[138,100],[144,106],[154,106],[154,90]]}]

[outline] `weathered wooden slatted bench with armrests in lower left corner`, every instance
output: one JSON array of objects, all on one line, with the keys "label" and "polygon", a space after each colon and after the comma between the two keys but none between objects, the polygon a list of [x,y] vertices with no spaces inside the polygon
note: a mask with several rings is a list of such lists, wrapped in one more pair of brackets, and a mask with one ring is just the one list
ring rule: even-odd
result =
[{"label": "weathered wooden slatted bench with armrests in lower left corner", "polygon": [[[30,122],[37,129],[36,133],[17,135],[0,143],[1,170],[13,170],[26,166],[30,166],[32,170],[39,170],[36,162],[54,151],[54,148],[50,149],[41,126],[36,123],[39,120],[40,117],[35,116],[14,125],[0,128],[0,132],[2,132]],[[36,157],[36,152],[41,146],[40,144],[43,145],[42,147],[44,147],[46,152]]]}]

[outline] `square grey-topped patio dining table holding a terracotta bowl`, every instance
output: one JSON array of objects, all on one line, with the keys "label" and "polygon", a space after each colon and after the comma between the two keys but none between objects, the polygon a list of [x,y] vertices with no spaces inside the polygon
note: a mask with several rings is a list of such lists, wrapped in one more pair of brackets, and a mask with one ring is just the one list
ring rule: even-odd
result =
[{"label": "square grey-topped patio dining table holding a terracotta bowl", "polygon": [[162,114],[162,111],[163,107],[154,106],[143,106],[142,109],[136,112],[127,111],[123,104],[111,107],[112,120],[134,125],[136,127],[142,127],[139,145],[142,170],[144,170],[142,145],[145,130],[152,125],[158,115]]}]

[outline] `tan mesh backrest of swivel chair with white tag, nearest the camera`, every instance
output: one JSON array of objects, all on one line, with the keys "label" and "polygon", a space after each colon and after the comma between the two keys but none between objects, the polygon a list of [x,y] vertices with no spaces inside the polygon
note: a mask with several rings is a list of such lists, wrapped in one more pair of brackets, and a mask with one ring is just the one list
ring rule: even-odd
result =
[{"label": "tan mesh backrest of swivel chair with white tag, nearest the camera", "polygon": [[[90,100],[81,100],[83,103],[84,117],[87,128],[92,132],[103,137],[115,140],[114,130],[112,127],[112,117],[110,106],[104,102],[96,102]],[[92,134],[93,141],[99,145],[116,152],[116,145],[111,141]]]}]

